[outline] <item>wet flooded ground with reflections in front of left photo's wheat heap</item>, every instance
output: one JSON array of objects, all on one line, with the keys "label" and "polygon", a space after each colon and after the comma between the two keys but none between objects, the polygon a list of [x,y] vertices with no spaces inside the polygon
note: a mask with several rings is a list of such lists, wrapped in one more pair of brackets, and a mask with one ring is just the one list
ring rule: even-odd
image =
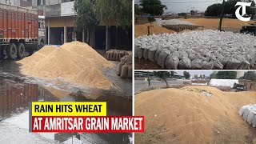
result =
[{"label": "wet flooded ground with reflections in front of left photo's wheat heap", "polygon": [[[0,143],[130,143],[132,134],[31,134],[28,132],[30,102],[107,102],[107,115],[132,115],[132,82],[104,70],[115,89],[96,90],[62,79],[29,78],[15,62],[0,61]],[[72,137],[73,135],[73,137]]]}]

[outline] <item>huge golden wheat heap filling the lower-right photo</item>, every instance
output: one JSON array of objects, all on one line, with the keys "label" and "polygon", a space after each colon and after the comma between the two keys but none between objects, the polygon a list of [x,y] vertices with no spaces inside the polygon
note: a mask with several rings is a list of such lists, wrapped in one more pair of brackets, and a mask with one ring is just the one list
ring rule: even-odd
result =
[{"label": "huge golden wheat heap filling the lower-right photo", "polygon": [[145,133],[135,134],[135,143],[256,143],[256,129],[238,114],[256,103],[256,92],[188,87],[213,96],[173,88],[135,95],[135,115],[145,116]]}]

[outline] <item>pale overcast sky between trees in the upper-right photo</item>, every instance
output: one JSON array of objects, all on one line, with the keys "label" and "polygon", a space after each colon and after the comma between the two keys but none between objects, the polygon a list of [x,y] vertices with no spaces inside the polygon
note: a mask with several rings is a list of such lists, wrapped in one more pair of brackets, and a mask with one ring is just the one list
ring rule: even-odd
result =
[{"label": "pale overcast sky between trees in the upper-right photo", "polygon": [[[166,12],[190,12],[190,10],[206,11],[207,7],[214,3],[222,3],[222,0],[161,0],[167,6]],[[135,0],[138,4],[139,0]]]}]

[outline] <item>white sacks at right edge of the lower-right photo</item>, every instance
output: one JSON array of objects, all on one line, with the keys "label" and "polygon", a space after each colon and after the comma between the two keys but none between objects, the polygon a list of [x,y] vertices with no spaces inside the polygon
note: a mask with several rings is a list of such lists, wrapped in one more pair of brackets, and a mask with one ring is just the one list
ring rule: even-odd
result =
[{"label": "white sacks at right edge of the lower-right photo", "polygon": [[242,106],[239,110],[239,114],[246,122],[253,127],[256,127],[256,105]]}]

